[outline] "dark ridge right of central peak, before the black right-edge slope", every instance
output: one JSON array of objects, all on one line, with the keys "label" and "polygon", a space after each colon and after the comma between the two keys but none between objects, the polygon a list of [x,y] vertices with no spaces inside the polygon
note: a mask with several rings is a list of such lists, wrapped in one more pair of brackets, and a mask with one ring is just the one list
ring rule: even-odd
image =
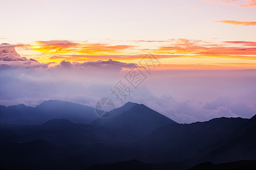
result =
[{"label": "dark ridge right of central peak, before the black right-edge slope", "polygon": [[[177,162],[204,153],[205,148],[226,137],[246,121],[214,118],[192,124],[169,124],[133,144],[135,159],[145,162]],[[139,153],[139,154],[138,154]]]}]

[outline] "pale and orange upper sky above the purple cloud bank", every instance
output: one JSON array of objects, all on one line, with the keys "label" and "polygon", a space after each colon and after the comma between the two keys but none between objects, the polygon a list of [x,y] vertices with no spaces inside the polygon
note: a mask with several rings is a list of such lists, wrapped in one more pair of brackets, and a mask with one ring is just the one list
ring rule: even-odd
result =
[{"label": "pale and orange upper sky above the purple cloud bank", "polygon": [[113,59],[162,68],[255,68],[255,0],[1,3],[0,43],[39,62]]}]

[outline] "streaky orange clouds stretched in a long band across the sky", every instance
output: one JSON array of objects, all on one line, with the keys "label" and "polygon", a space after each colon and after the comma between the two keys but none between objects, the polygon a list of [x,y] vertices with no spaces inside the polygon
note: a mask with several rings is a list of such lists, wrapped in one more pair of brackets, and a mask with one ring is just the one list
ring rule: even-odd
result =
[{"label": "streaky orange clouds stretched in a long band across the sky", "polygon": [[[139,41],[148,42],[151,40]],[[52,40],[32,42],[32,45],[27,46],[27,49],[35,51],[35,55],[37,56],[34,58],[39,62],[61,62],[63,60],[84,62],[110,58],[117,61],[136,62],[142,59],[148,51],[159,59],[177,57],[256,59],[256,42],[253,41],[212,43],[201,40],[170,39],[168,42],[169,45],[147,49],[139,48],[139,46],[134,48],[135,46],[131,45]]]}]

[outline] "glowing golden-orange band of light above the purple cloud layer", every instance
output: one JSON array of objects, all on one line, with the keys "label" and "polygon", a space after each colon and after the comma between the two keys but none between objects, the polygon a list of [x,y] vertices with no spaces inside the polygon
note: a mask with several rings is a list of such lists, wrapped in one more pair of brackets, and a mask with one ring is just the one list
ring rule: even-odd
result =
[{"label": "glowing golden-orange band of light above the purple cloud layer", "polygon": [[[152,43],[152,41],[161,42],[161,45],[151,49],[144,49],[141,45]],[[256,42],[254,41],[205,42],[203,40],[170,39],[168,41],[134,40],[134,43],[136,45],[52,40],[35,41],[31,42],[31,45],[23,45],[16,49],[28,58],[34,57],[43,63],[86,62],[99,59],[138,63],[148,51],[160,59],[166,67],[177,65],[187,65],[191,68],[208,66],[209,68],[223,68],[224,65],[251,67],[256,63]]]}]

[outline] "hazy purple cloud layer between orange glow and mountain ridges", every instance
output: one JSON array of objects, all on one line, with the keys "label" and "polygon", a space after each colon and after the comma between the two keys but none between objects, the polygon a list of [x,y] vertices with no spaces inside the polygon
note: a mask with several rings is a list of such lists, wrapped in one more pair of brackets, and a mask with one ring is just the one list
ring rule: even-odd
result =
[{"label": "hazy purple cloud layer between orange glow and mountain ridges", "polygon": [[[35,106],[57,99],[94,107],[97,100],[108,97],[120,107],[110,89],[122,80],[133,91],[125,102],[143,103],[180,123],[222,116],[249,118],[256,113],[255,70],[153,71],[134,89],[124,79],[132,66],[112,60],[63,61],[53,67],[0,66],[0,105]],[[121,71],[123,67],[127,70]]]}]

